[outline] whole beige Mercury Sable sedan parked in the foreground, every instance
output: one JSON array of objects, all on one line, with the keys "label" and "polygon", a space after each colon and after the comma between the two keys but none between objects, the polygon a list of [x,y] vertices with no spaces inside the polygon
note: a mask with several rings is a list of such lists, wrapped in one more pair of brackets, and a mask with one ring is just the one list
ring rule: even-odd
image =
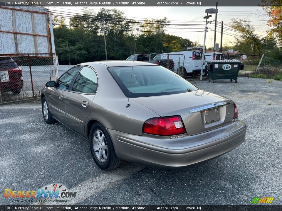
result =
[{"label": "whole beige Mercury Sable sedan parked in the foreground", "polygon": [[198,89],[156,64],[79,64],[42,90],[45,122],[56,120],[89,140],[101,169],[121,160],[179,168],[244,142],[246,125],[228,98]]}]

